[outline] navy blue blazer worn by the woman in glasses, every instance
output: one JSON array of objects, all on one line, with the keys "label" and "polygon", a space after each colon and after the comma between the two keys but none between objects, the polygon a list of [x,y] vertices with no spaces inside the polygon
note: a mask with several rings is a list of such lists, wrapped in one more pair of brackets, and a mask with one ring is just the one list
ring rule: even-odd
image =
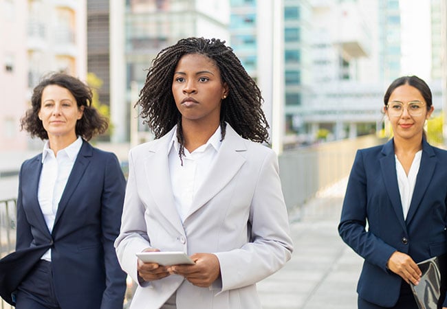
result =
[{"label": "navy blue blazer worn by the woman in glasses", "polygon": [[425,139],[422,144],[421,165],[406,220],[393,139],[382,146],[358,150],[349,176],[338,231],[364,258],[358,295],[379,306],[394,306],[400,294],[402,278],[386,268],[394,251],[410,255],[415,262],[447,252],[447,151],[430,146]]}]

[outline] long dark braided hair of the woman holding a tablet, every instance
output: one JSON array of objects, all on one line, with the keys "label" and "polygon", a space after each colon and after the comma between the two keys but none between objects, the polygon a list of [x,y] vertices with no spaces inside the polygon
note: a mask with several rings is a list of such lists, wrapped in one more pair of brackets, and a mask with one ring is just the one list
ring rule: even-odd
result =
[{"label": "long dark braided hair of the woman holding a tablet", "polygon": [[[155,138],[162,137],[178,124],[177,139],[182,146],[184,144],[182,115],[175,105],[172,84],[177,62],[186,54],[201,54],[212,59],[219,68],[221,81],[228,85],[228,96],[221,104],[221,138],[225,137],[225,122],[228,122],[241,137],[268,142],[269,126],[261,109],[261,91],[232,48],[215,38],[183,38],[162,49],[153,60],[135,106],[141,106],[140,115]],[[182,157],[181,153],[179,155]]]}]

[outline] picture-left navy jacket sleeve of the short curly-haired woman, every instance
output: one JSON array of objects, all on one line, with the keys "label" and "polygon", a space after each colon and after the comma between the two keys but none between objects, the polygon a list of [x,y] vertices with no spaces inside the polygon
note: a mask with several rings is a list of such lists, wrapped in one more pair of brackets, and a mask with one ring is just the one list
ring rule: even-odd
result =
[{"label": "picture-left navy jacket sleeve of the short curly-haired woman", "polygon": [[25,210],[22,203],[22,181],[25,163],[22,164],[19,173],[19,192],[17,194],[17,232],[16,232],[16,250],[30,247],[33,240],[31,233],[31,225],[26,218]]}]

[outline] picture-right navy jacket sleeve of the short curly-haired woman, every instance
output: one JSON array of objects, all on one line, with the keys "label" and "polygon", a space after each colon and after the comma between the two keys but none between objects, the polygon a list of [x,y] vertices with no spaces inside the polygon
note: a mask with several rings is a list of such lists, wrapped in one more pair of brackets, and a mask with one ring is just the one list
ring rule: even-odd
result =
[{"label": "picture-right navy jacket sleeve of the short curly-haired woman", "polygon": [[122,309],[126,290],[126,274],[116,258],[113,242],[120,231],[120,219],[126,181],[115,155],[107,158],[101,198],[102,245],[105,253],[106,288],[102,309]]}]

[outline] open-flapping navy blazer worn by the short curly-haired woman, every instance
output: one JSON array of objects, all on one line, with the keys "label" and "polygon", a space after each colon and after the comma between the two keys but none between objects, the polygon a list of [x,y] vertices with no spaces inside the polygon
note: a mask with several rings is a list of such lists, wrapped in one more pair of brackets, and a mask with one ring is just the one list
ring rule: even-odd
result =
[{"label": "open-flapping navy blazer worn by the short curly-haired woman", "polygon": [[26,275],[21,266],[30,268],[51,247],[54,289],[62,308],[122,309],[126,275],[113,247],[125,191],[118,159],[83,141],[52,233],[37,198],[41,170],[41,154],[21,166],[16,252],[0,260],[2,279],[12,281],[2,282],[2,297],[5,288],[15,289],[14,278]]}]

